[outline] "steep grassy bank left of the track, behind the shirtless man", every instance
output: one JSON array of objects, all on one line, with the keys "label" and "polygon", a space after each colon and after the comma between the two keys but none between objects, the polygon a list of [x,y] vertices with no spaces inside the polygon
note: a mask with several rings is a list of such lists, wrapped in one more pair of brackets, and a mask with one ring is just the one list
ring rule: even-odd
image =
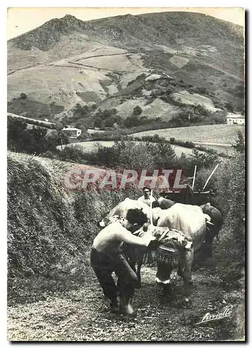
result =
[{"label": "steep grassy bank left of the track, behind the shirtless man", "polygon": [[126,195],[138,194],[67,191],[63,177],[71,167],[67,162],[8,153],[10,302],[77,288],[88,276],[97,219]]}]

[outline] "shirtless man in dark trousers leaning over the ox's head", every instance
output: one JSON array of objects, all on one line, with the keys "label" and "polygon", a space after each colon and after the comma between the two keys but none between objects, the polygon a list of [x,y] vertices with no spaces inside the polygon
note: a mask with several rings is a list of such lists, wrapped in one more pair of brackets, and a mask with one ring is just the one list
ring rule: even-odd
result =
[{"label": "shirtless man in dark trousers leaning over the ox's head", "polygon": [[[93,241],[90,253],[90,262],[105,296],[110,299],[111,310],[119,308],[117,293],[120,294],[120,311],[127,315],[134,315],[130,303],[134,295],[134,287],[138,286],[138,278],[123,255],[120,247],[123,243],[148,246],[155,237],[146,232],[143,237],[132,235],[136,225],[143,226],[147,222],[147,216],[139,209],[129,209],[126,219],[120,218],[110,223],[98,233]],[[118,277],[117,286],[112,278],[115,272]]]}]

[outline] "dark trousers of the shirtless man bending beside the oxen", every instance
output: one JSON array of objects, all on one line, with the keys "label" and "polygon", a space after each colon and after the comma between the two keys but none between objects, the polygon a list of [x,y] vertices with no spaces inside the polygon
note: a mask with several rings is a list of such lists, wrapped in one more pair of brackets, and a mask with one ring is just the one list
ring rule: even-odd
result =
[{"label": "dark trousers of the shirtless man bending beside the oxen", "polygon": [[[120,296],[132,297],[134,295],[134,287],[138,285],[138,278],[121,253],[104,255],[92,248],[90,263],[103,293],[108,299],[113,301],[118,291]],[[118,277],[117,285],[112,278],[113,272]]]}]

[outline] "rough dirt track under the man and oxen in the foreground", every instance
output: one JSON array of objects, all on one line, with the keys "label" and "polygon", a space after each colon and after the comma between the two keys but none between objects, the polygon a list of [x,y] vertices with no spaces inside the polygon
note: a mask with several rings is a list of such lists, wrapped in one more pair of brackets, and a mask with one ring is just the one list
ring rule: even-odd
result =
[{"label": "rough dirt track under the man and oxen in the foreground", "polygon": [[230,304],[213,271],[194,270],[191,309],[180,306],[182,280],[176,274],[171,296],[164,296],[155,284],[155,268],[143,267],[142,274],[143,286],[134,296],[134,319],[110,313],[95,276],[89,276],[86,286],[78,291],[8,308],[8,340],[155,342],[238,338],[236,305],[232,317],[196,325],[207,312],[216,314]]}]

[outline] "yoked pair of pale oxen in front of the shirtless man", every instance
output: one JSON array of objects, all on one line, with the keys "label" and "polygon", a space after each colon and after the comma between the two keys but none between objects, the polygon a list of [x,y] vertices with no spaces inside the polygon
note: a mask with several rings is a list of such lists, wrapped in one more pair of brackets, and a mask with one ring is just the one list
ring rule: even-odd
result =
[{"label": "yoked pair of pale oxen in front of the shirtless man", "polygon": [[[185,308],[190,307],[191,265],[194,255],[200,251],[201,260],[212,257],[212,242],[223,223],[221,212],[210,203],[199,207],[159,198],[150,208],[138,200],[126,198],[109,212],[100,226],[105,227],[114,219],[125,218],[129,209],[141,209],[148,217],[148,223],[141,228],[136,226],[134,234],[143,235],[151,230],[157,239],[157,243],[153,244],[157,260],[156,283],[167,290],[171,272],[178,269],[178,275],[184,281],[182,304]],[[125,245],[124,253],[139,278],[140,287],[141,264],[146,249]]]}]

